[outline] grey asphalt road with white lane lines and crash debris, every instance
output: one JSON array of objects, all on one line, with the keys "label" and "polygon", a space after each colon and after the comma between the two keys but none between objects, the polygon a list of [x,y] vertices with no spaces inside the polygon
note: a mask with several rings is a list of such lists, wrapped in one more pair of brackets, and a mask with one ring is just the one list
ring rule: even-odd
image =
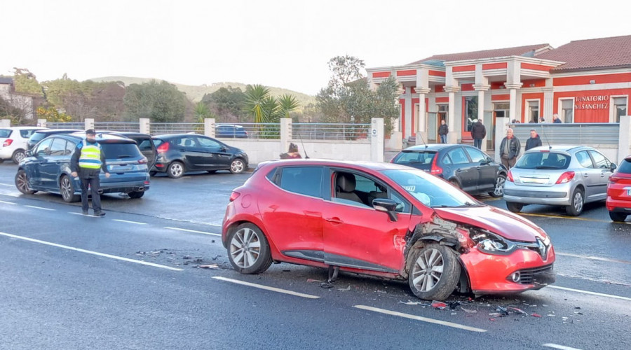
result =
[{"label": "grey asphalt road with white lane lines and crash debris", "polygon": [[[102,196],[107,216],[93,218],[58,195],[21,195],[15,169],[0,164],[0,349],[631,344],[631,225],[611,223],[602,204],[578,218],[525,207],[555,244],[557,283],[506,297],[452,295],[462,304],[451,310],[418,304],[403,282],[341,274],[321,288],[325,270],[288,264],[237,274],[218,235],[231,190],[247,174],[158,176],[141,200]],[[528,316],[489,315],[497,307]]]}]

